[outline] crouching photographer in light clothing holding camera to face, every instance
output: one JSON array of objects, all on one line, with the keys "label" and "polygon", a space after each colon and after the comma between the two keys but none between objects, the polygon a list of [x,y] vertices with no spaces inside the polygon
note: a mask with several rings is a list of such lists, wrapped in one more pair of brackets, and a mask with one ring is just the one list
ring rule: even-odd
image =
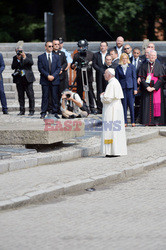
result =
[{"label": "crouching photographer in light clothing holding camera to face", "polygon": [[65,89],[62,92],[61,111],[62,118],[66,119],[87,117],[89,114],[86,103],[81,100],[80,96],[77,93],[74,93],[69,89]]}]

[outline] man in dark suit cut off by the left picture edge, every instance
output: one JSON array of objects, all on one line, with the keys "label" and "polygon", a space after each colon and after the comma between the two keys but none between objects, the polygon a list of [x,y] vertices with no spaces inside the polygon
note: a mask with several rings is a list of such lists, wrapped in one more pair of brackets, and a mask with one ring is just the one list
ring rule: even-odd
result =
[{"label": "man in dark suit cut off by the left picture edge", "polygon": [[2,105],[2,112],[4,115],[8,114],[8,108],[7,108],[7,102],[6,102],[6,95],[4,92],[4,86],[3,86],[3,78],[2,78],[2,72],[5,69],[5,63],[3,60],[3,56],[0,53],[0,99],[1,99],[1,105]]}]

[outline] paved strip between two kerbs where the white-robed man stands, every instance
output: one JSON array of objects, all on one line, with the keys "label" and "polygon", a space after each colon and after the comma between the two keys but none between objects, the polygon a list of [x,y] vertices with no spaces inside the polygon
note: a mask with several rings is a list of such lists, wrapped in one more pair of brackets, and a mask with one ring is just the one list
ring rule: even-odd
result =
[{"label": "paved strip between two kerbs where the white-robed man stands", "polygon": [[104,158],[101,155],[95,155],[75,161],[8,172],[0,175],[0,200],[156,160],[165,156],[165,147],[166,139],[160,136],[143,143],[129,145],[127,156]]}]

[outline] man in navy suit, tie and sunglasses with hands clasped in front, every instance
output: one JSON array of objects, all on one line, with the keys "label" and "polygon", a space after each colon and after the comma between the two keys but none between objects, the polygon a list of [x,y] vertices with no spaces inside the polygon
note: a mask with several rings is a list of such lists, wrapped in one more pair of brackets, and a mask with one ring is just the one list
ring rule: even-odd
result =
[{"label": "man in navy suit, tie and sunglasses with hands clasped in front", "polygon": [[40,84],[42,85],[42,105],[41,119],[46,116],[48,110],[49,88],[52,94],[52,113],[58,119],[59,108],[59,73],[61,71],[60,58],[52,53],[53,44],[48,41],[45,43],[46,52],[38,56],[38,70],[40,72]]}]

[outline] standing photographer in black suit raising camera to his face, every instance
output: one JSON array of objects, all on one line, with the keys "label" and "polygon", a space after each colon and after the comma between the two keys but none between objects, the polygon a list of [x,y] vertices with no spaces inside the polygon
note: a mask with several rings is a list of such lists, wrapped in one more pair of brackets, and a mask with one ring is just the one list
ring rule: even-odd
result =
[{"label": "standing photographer in black suit raising camera to his face", "polygon": [[20,104],[20,113],[25,114],[25,92],[29,99],[29,116],[35,112],[35,98],[33,91],[33,82],[35,77],[32,71],[33,59],[31,54],[25,54],[22,46],[16,47],[16,55],[13,57],[11,68],[14,69],[13,82],[16,83],[18,92],[18,101]]}]

